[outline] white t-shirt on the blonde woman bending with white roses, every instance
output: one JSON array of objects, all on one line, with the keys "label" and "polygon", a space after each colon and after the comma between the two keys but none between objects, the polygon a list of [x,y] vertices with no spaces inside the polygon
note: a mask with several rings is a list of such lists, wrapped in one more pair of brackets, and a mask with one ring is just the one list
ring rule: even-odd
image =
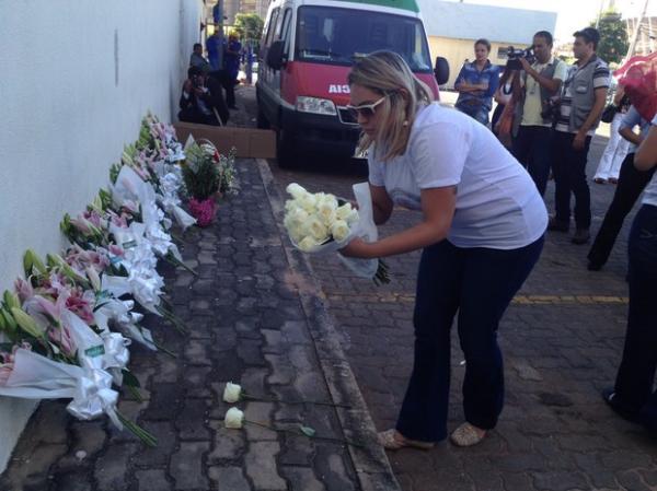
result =
[{"label": "white t-shirt on the blonde woman bending with white roses", "polygon": [[403,155],[368,155],[369,180],[420,210],[420,189],[457,186],[448,239],[457,247],[515,249],[543,235],[548,212],[525,168],[481,122],[439,104],[418,110]]}]

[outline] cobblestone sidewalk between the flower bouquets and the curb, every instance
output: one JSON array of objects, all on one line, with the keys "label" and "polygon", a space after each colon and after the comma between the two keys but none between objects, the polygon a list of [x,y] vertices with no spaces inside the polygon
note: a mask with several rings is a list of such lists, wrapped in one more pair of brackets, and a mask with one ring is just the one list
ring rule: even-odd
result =
[{"label": "cobblestone sidewalk between the flower bouquets and the curb", "polygon": [[[159,439],[148,448],[107,421],[80,422],[66,401],[44,401],[25,429],[0,490],[25,491],[350,491],[397,484],[351,372],[335,342],[307,259],[286,247],[283,210],[266,164],[239,160],[239,196],[218,220],[188,231],[182,253],[198,277],[164,269],[184,337],[153,316],[158,340],[177,358],[132,346],[130,367],[143,401],[119,409]],[[270,200],[267,199],[270,198]],[[318,436],[348,437],[364,448],[309,440],[253,424],[223,428],[224,382],[251,395],[311,404],[247,401],[247,420]]]}]

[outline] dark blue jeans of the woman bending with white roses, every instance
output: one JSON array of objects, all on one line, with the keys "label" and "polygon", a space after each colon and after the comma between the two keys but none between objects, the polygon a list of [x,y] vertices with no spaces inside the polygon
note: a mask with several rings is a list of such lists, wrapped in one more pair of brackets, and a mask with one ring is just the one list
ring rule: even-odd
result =
[{"label": "dark blue jeans of the woman bending with white roses", "polygon": [[465,355],[465,420],[494,428],[504,405],[504,369],[497,344],[499,320],[543,249],[543,237],[511,250],[460,248],[442,241],[424,249],[417,274],[413,324],[415,361],[396,429],[437,442],[447,436],[450,334],[459,312]]}]

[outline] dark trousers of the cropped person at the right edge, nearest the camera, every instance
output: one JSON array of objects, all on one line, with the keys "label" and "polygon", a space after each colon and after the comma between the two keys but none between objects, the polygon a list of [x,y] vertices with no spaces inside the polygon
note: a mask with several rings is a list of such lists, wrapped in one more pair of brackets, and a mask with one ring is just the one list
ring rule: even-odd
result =
[{"label": "dark trousers of the cropped person at the right edge, nearest the camera", "polygon": [[623,359],[615,393],[624,406],[639,412],[657,431],[657,391],[653,391],[657,367],[657,207],[641,207],[629,242],[630,308]]}]

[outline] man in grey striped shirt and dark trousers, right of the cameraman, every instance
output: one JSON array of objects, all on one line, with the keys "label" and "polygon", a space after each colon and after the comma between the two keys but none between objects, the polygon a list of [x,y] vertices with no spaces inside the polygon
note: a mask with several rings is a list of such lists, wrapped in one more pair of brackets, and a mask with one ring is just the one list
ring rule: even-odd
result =
[{"label": "man in grey striped shirt and dark trousers, right of the cameraman", "polygon": [[574,244],[590,238],[591,197],[586,180],[586,162],[591,138],[600,122],[610,82],[609,67],[598,58],[600,34],[592,27],[577,31],[569,67],[562,87],[561,107],[554,132],[554,208],[548,230],[567,232],[570,225],[570,194],[575,195]]}]

